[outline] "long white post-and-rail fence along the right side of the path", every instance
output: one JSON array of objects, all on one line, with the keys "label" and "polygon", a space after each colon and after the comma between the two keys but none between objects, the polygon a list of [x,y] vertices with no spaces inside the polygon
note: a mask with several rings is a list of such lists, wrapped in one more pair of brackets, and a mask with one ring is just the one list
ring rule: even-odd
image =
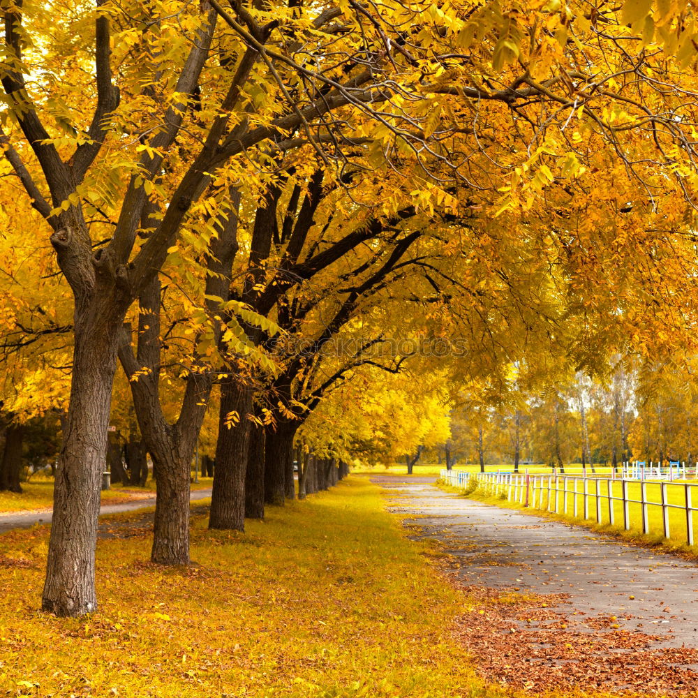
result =
[{"label": "long white post-and-rail fence along the right side of the path", "polygon": [[[694,544],[693,489],[690,482],[651,482],[620,475],[551,473],[466,473],[441,470],[441,480],[462,490],[480,489],[524,507],[616,525]],[[672,533],[674,535],[672,535]]]}]

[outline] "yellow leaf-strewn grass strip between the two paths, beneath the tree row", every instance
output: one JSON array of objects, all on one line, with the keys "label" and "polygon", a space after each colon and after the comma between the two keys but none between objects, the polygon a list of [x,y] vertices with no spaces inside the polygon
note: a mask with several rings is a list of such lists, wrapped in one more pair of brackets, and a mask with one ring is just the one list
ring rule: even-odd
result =
[{"label": "yellow leaf-strewn grass strip between the two paths, beneath the tree row", "polygon": [[[149,536],[98,543],[91,618],[40,614],[47,536],[0,536],[0,695],[235,698],[497,696],[450,628],[467,602],[356,477],[271,507],[245,534],[193,519],[192,558]],[[123,520],[123,518],[122,518]]]}]

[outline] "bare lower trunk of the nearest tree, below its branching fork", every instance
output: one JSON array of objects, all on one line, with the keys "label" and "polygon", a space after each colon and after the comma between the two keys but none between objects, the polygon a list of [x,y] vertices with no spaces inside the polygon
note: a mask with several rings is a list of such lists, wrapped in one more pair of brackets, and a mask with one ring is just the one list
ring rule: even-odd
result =
[{"label": "bare lower trunk of the nearest tree, below its branching fork", "polygon": [[54,484],[41,607],[57,616],[97,610],[97,518],[122,318],[94,306],[76,304],[70,403]]}]

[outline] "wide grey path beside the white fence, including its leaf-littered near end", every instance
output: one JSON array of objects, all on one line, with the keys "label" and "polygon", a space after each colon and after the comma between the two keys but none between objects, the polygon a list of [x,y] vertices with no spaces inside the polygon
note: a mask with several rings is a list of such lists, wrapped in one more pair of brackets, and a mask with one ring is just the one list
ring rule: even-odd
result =
[{"label": "wide grey path beside the white fence, including its leaf-littered near end", "polygon": [[[609,642],[605,651],[599,651],[598,644],[590,650],[597,659],[587,656],[581,662],[586,667],[578,671],[581,678],[596,672],[599,688],[643,693],[646,688],[652,693],[698,696],[695,563],[617,542],[582,526],[468,500],[439,489],[433,477],[373,475],[371,480],[389,490],[389,508],[403,517],[410,537],[436,538],[445,545],[453,556],[450,572],[466,589],[549,596],[549,608],[543,610],[551,611],[552,620],[541,616],[531,622],[514,609],[505,619],[506,632],[516,638],[513,644],[526,646],[518,653],[514,650],[512,658],[540,662],[531,664],[530,676],[523,676],[519,683],[516,670],[506,664],[512,660],[491,662],[488,671],[482,672],[490,680],[494,676],[500,683],[520,688],[540,683],[544,690],[540,677],[546,676],[546,666],[559,669],[558,676],[574,674],[570,661],[577,659],[560,659],[564,653],[544,648],[547,637],[552,641],[552,632],[560,634],[564,628],[566,635],[576,633],[574,637],[581,641],[594,634]],[[477,642],[489,643],[480,636],[473,644],[476,655]],[[614,637],[621,638],[620,644],[614,645]],[[601,666],[591,666],[590,661]],[[640,667],[645,661],[652,666]],[[614,662],[618,664],[615,674]]]}]

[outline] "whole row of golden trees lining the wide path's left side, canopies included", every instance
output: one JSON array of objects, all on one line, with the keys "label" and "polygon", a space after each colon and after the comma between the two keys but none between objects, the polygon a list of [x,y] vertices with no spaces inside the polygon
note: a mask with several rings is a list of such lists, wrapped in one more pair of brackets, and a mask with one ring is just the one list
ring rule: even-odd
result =
[{"label": "whole row of golden trees lining the wide path's left side, canopies included", "polygon": [[47,611],[97,608],[110,424],[186,564],[197,443],[243,530],[299,445],[414,459],[475,383],[692,348],[681,3],[2,9],[2,410],[61,419]]}]

